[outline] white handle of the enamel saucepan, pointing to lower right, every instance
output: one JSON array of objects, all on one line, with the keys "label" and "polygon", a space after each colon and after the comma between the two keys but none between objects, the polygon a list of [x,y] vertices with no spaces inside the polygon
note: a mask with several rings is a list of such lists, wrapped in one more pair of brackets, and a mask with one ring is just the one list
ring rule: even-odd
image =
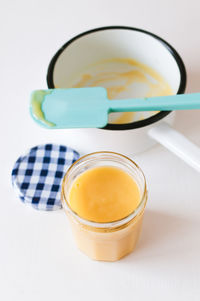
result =
[{"label": "white handle of the enamel saucepan, pointing to lower right", "polygon": [[165,122],[152,127],[148,134],[200,172],[200,148],[190,142],[185,136]]}]

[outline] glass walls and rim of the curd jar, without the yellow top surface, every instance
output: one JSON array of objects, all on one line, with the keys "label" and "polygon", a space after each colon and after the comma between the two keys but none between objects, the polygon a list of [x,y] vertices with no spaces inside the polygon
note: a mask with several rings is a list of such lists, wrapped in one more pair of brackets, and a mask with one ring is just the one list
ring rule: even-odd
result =
[{"label": "glass walls and rim of the curd jar, without the yellow top surface", "polygon": [[[123,219],[108,223],[88,221],[72,210],[69,192],[75,179],[88,169],[100,166],[118,167],[138,185],[138,207]],[[132,252],[138,241],[147,202],[146,180],[139,166],[128,157],[113,152],[96,152],[81,157],[68,169],[62,183],[61,200],[72,226],[79,249],[95,260],[116,261]]]}]

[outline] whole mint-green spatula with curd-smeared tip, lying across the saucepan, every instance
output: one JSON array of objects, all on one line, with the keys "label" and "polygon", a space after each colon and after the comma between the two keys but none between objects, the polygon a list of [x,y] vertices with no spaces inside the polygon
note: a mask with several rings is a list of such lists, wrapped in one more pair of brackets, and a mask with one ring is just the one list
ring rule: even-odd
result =
[{"label": "whole mint-green spatula with curd-smeared tip, lying across the saucepan", "polygon": [[33,119],[50,129],[101,128],[111,112],[190,109],[200,109],[200,93],[111,101],[101,87],[36,90],[30,106]]}]

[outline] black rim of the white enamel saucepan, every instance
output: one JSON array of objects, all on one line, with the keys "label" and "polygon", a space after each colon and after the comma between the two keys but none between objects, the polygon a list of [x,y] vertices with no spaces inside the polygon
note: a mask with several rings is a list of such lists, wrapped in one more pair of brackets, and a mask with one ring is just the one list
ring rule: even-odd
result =
[{"label": "black rim of the white enamel saucepan", "polygon": [[[74,41],[76,41],[77,39],[86,36],[88,34],[97,32],[97,31],[103,31],[103,30],[115,30],[115,29],[122,29],[122,30],[132,30],[132,31],[139,31],[142,33],[145,33],[147,35],[150,35],[151,37],[155,38],[156,40],[158,40],[160,43],[162,43],[162,45],[171,53],[171,55],[174,57],[177,66],[179,68],[180,71],[180,84],[179,84],[179,88],[177,91],[177,94],[182,94],[185,91],[186,88],[186,81],[187,81],[187,76],[186,76],[186,70],[185,70],[185,66],[184,63],[180,57],[180,55],[177,53],[177,51],[169,44],[167,43],[165,40],[163,40],[162,38],[160,38],[159,36],[143,30],[143,29],[139,29],[139,28],[135,28],[135,27],[128,27],[128,26],[106,26],[106,27],[99,27],[99,28],[94,28],[92,30],[88,30],[85,31],[77,36],[75,36],[74,38],[70,39],[67,43],[65,43],[57,52],[56,54],[53,56],[53,58],[50,61],[49,67],[48,67],[48,71],[47,71],[47,85],[49,89],[54,89],[54,82],[53,82],[53,73],[54,73],[54,67],[55,64],[59,58],[59,56],[62,54],[62,52]],[[140,128],[140,127],[144,127],[147,125],[150,125],[156,121],[159,121],[160,119],[166,117],[171,111],[161,111],[151,117],[148,117],[144,120],[139,120],[139,121],[134,121],[131,123],[123,123],[123,124],[107,124],[103,129],[105,130],[132,130],[132,129],[136,129],[136,128]]]}]

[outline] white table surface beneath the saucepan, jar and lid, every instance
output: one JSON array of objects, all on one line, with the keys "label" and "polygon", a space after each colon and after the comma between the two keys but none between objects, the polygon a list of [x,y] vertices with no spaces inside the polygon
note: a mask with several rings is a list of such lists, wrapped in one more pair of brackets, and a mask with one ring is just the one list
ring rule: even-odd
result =
[{"label": "white table surface beneath the saucepan, jar and lid", "polygon": [[[62,210],[38,212],[14,194],[10,174],[27,148],[67,144],[28,114],[30,91],[46,88],[48,63],[87,29],[127,25],[171,43],[200,91],[198,0],[1,1],[0,300],[200,300],[200,174],[161,146],[137,156],[149,185],[140,242],[116,263],[94,262],[73,241]],[[200,146],[200,112],[179,112],[175,128]],[[74,137],[78,139],[78,137]]]}]

